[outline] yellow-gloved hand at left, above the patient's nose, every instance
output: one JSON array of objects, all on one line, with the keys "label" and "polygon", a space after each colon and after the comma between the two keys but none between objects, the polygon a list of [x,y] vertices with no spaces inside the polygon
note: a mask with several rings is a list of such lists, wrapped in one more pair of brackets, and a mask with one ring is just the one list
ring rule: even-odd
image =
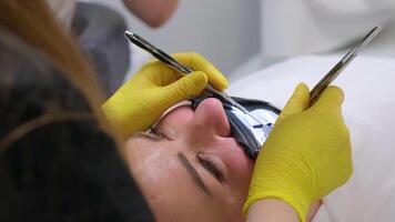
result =
[{"label": "yellow-gloved hand at left, above the patient's nose", "polygon": [[224,90],[227,81],[198,53],[178,53],[173,58],[195,72],[183,77],[160,61],[148,62],[102,107],[110,122],[123,137],[148,130],[173,104],[199,95],[210,82]]}]

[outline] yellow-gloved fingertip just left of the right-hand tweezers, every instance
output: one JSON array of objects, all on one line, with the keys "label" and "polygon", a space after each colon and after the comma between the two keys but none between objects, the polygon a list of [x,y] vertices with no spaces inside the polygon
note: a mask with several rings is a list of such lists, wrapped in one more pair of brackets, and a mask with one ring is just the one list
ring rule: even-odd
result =
[{"label": "yellow-gloved fingertip just left of the right-hand tweezers", "polygon": [[308,108],[310,91],[305,83],[298,83],[290,100],[286,102],[275,124],[278,124],[286,117],[300,113]]}]

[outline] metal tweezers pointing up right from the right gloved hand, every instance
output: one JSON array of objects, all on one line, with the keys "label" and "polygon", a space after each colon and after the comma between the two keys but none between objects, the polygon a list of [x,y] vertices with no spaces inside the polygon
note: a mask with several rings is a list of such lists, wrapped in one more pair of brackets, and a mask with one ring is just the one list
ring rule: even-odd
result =
[{"label": "metal tweezers pointing up right from the right gloved hand", "polygon": [[310,104],[313,104],[320,94],[331,84],[333,80],[353,61],[357,53],[366,47],[371,41],[382,31],[382,27],[373,28],[352,50],[350,50],[335,67],[333,67],[327,74],[313,88],[310,92]]}]

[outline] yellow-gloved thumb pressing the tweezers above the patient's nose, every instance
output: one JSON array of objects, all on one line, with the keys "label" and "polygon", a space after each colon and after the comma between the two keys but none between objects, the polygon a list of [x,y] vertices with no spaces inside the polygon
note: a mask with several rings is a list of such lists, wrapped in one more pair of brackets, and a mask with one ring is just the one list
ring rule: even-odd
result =
[{"label": "yellow-gloved thumb pressing the tweezers above the patient's nose", "polygon": [[205,73],[196,71],[163,88],[163,94],[166,97],[166,102],[175,104],[190,97],[199,95],[206,84]]}]

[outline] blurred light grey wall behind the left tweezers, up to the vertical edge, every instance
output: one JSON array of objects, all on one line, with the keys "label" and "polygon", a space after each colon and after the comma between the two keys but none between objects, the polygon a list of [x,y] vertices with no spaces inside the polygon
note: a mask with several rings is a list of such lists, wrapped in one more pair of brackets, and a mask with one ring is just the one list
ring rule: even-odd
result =
[{"label": "blurred light grey wall behind the left tweezers, up to the vertical edge", "polygon": [[95,1],[122,11],[131,30],[159,48],[200,52],[225,74],[260,51],[260,0],[180,0],[173,18],[160,29],[140,22],[120,0]]}]

